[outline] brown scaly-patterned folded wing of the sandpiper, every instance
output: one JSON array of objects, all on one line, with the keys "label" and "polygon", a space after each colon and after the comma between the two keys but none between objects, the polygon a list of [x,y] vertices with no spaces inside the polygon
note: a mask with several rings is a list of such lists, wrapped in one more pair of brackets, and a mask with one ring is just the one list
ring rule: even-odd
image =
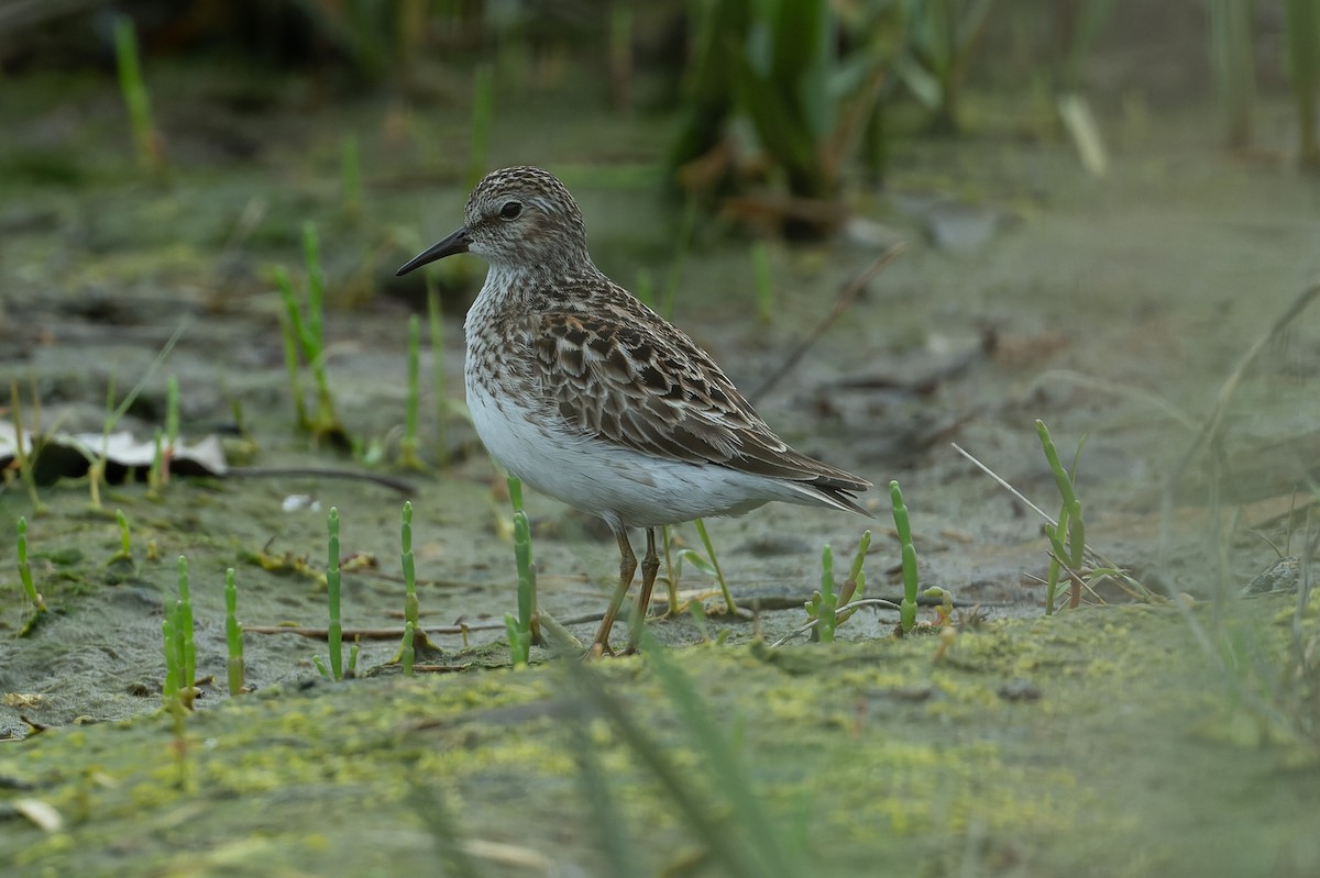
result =
[{"label": "brown scaly-patterned folded wing of the sandpiper", "polygon": [[[826,492],[870,483],[799,454],[776,436],[719,366],[686,335],[581,312],[544,314],[533,328],[543,392],[585,432],[656,457],[714,463]],[[663,324],[661,324],[663,326]]]}]

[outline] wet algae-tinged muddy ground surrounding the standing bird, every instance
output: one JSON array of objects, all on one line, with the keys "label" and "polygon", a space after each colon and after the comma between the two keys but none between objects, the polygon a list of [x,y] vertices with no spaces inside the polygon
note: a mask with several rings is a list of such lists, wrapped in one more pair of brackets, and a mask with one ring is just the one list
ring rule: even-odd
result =
[{"label": "wet algae-tinged muddy ground surrounding the standing bird", "polygon": [[[149,440],[174,376],[181,434],[223,436],[231,463],[252,472],[174,479],[157,498],[143,484],[110,485],[100,509],[77,479],[38,488],[40,513],[17,481],[0,493],[5,522],[28,518],[33,573],[51,608],[17,637],[30,609],[15,544],[0,539],[0,858],[78,874],[375,874],[434,857],[475,857],[480,874],[609,874],[585,770],[570,755],[585,740],[619,799],[639,874],[676,869],[701,849],[690,823],[605,708],[579,704],[581,680],[540,650],[533,668],[502,670],[516,581],[508,498],[457,405],[461,310],[484,272],[475,258],[446,265],[444,349],[422,348],[429,471],[396,463],[407,320],[424,311],[425,293],[420,279],[391,276],[459,220],[466,191],[445,157],[466,149],[462,116],[367,103],[232,119],[235,136],[259,142],[253,156],[181,131],[174,178],[160,185],[133,167],[116,99],[86,92],[44,109],[4,99],[4,112],[29,124],[0,161],[29,170],[7,174],[0,200],[0,380],[29,401],[28,426],[36,394],[44,427],[99,432],[107,388],[123,398],[183,326],[121,428]],[[652,191],[660,123],[602,117],[590,138],[539,140],[556,112],[511,109],[492,163],[558,173],[582,204],[597,262],[626,286],[661,287],[681,211]],[[708,522],[730,588],[755,618],[722,617],[714,581],[686,564],[682,596],[702,600],[706,620],[651,625],[734,734],[752,783],[775,791],[770,820],[801,836],[785,844],[817,852],[828,873],[858,874],[876,857],[915,858],[927,863],[920,874],[966,862],[994,874],[1320,869],[1300,802],[1313,750],[1245,718],[1238,689],[1216,688],[1214,662],[1173,609],[1039,618],[1041,521],[950,446],[1055,514],[1034,421],[1049,424],[1065,460],[1085,438],[1077,484],[1088,543],[1158,591],[1196,599],[1200,624],[1236,620],[1241,635],[1224,637],[1249,643],[1239,670],[1257,659],[1282,667],[1290,599],[1247,609],[1212,609],[1210,599],[1236,595],[1275,560],[1254,531],[1284,547],[1302,526],[1290,510],[1305,509],[1307,492],[1294,498],[1294,488],[1316,477],[1316,314],[1304,311],[1242,374],[1213,454],[1193,457],[1168,505],[1163,486],[1234,365],[1320,270],[1320,189],[1282,162],[1225,156],[1197,133],[1206,129],[1192,117],[1115,123],[1105,179],[1085,177],[1065,144],[1022,140],[1007,124],[970,141],[906,144],[888,190],[858,198],[866,225],[828,245],[772,248],[768,323],[754,316],[747,241],[718,221],[698,228],[673,319],[748,390],[875,258],[878,240],[907,241],[758,402],[793,446],[879,485],[866,496],[875,519],[771,505]],[[359,132],[364,156],[356,214],[335,178],[345,131]],[[314,446],[293,424],[271,272],[300,273],[306,220],[325,256],[326,369],[356,454]],[[450,401],[444,431],[437,356]],[[323,628],[330,506],[341,556],[355,559],[345,562],[345,628],[401,630],[404,496],[366,480],[261,472],[289,468],[413,488],[424,628],[470,626],[433,633],[440,651],[428,662],[462,672],[403,679],[387,664],[397,638],[363,638],[367,679],[335,686],[312,662],[323,642],[248,633],[252,693],[227,695],[226,568],[249,629]],[[945,655],[939,637],[890,639],[896,614],[866,609],[840,629],[853,643],[799,638],[766,650],[805,621],[825,543],[850,558],[871,527],[867,596],[898,599],[890,479],[912,512],[923,584],[981,605],[986,622]],[[128,564],[111,563],[116,509],[131,522]],[[541,606],[579,620],[570,629],[589,639],[616,575],[614,542],[553,500],[529,496],[528,512]],[[673,551],[701,550],[690,526],[675,541]],[[1299,542],[1300,533],[1294,552]],[[183,745],[160,713],[162,606],[180,555],[191,571],[198,671],[214,675]],[[1313,637],[1313,618],[1305,625]],[[688,782],[722,807],[729,790],[693,767],[701,747],[684,738],[673,696],[644,659],[587,674],[667,751],[688,754]],[[585,718],[578,728],[568,717]],[[1309,767],[1288,775],[1283,766],[1299,759]],[[15,811],[21,799],[51,803],[65,828],[36,828]],[[1236,833],[1213,831],[1230,824]],[[368,837],[370,850],[358,844]]]}]

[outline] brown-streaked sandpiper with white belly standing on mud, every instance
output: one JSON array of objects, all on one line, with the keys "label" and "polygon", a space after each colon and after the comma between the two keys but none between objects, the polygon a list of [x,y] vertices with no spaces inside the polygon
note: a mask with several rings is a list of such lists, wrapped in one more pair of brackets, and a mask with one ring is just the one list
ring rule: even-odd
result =
[{"label": "brown-streaked sandpiper with white belly standing on mud", "polygon": [[661,525],[771,500],[869,514],[854,494],[871,483],[788,447],[709,353],[591,262],[582,212],[553,174],[492,171],[463,220],[399,274],[455,253],[490,264],[465,320],[467,407],[495,460],[614,531],[619,585],[594,650],[610,651],[638,568],[628,527],[647,531],[640,624]]}]

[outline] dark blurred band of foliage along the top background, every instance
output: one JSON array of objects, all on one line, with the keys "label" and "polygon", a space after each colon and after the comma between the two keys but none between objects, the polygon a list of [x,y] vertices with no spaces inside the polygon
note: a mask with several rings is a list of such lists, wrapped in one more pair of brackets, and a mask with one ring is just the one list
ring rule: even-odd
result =
[{"label": "dark blurred band of foliage along the top background", "polygon": [[[257,108],[276,103],[263,83],[301,75],[322,102],[473,102],[474,127],[492,87],[667,113],[671,194],[788,237],[837,228],[850,191],[883,185],[896,138],[974,131],[969,92],[1045,107],[1028,134],[1071,138],[1093,173],[1092,102],[1217,100],[1225,145],[1249,149],[1257,102],[1287,99],[1288,149],[1320,167],[1320,0],[8,0],[3,87],[114,75],[120,16],[148,63],[214,65]],[[1096,46],[1130,69],[1093,62]]]}]

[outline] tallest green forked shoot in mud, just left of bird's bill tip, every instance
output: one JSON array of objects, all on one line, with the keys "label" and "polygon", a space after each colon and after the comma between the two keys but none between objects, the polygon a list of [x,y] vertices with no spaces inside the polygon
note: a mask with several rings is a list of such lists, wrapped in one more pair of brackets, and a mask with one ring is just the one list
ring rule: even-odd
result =
[{"label": "tallest green forked shoot in mud, just left of bird's bill tip", "polygon": [[[289,390],[293,393],[293,406],[298,427],[312,434],[313,439],[330,439],[338,446],[347,446],[348,436],[334,409],[334,395],[330,393],[330,380],[326,376],[325,349],[325,276],[321,272],[321,241],[314,223],[302,225],[302,252],[308,273],[306,311],[298,303],[289,273],[276,268],[275,282],[284,301],[284,356],[289,369]],[[298,377],[298,357],[312,369],[317,385],[317,411],[308,417],[302,399],[302,384]]]}]

